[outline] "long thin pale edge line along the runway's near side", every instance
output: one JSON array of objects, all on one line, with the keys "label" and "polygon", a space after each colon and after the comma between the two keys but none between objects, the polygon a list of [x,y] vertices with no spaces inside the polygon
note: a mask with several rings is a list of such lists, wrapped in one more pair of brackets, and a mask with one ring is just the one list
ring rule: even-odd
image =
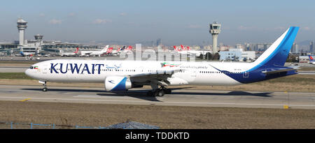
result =
[{"label": "long thin pale edge line along the runway's near side", "polygon": [[[0,97],[0,98],[25,98],[25,97]],[[194,102],[172,102],[172,101],[146,101],[146,100],[96,100],[96,99],[69,99],[69,98],[31,98],[38,100],[81,100],[81,101],[109,101],[109,102],[129,102],[129,103],[176,103],[176,104],[205,104],[205,105],[259,105],[259,106],[280,106],[283,104],[253,104],[253,103],[194,103]],[[293,107],[315,107],[315,105],[293,105],[288,104],[288,106]]]}]

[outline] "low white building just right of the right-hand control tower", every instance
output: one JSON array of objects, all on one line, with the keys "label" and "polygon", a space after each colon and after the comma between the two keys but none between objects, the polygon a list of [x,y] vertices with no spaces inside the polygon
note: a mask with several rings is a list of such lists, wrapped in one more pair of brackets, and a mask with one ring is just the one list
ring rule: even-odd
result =
[{"label": "low white building just right of the right-hand control tower", "polygon": [[255,51],[243,51],[242,49],[230,49],[229,51],[221,51],[220,61],[253,61],[255,59]]}]

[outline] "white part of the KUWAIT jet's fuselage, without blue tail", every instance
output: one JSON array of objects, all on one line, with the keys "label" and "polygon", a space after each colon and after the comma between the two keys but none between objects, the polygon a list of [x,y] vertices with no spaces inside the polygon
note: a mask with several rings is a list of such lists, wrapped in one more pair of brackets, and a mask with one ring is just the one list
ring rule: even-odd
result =
[{"label": "white part of the KUWAIT jet's fuselage, without blue tail", "polygon": [[[165,70],[180,70],[168,77],[169,85],[236,85],[241,84],[214,67],[231,73],[241,73],[251,68],[251,63],[181,62],[170,61],[111,61],[111,60],[50,60],[36,63],[38,69],[25,73],[37,80],[47,82],[104,82],[109,76],[156,73]],[[170,63],[170,65],[169,65]],[[214,67],[213,67],[214,66]],[[248,75],[245,75],[248,76]],[[247,77],[246,77],[247,78]],[[139,78],[136,82],[145,82]],[[143,80],[143,81],[141,81]]]}]

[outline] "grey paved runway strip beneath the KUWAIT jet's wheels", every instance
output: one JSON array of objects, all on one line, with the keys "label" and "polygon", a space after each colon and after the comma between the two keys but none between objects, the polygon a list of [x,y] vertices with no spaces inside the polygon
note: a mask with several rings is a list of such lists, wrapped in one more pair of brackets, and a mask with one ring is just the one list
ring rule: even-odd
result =
[{"label": "grey paved runway strip beneath the KUWAIT jet's wheels", "polygon": [[102,88],[0,85],[0,100],[20,102],[97,103],[128,105],[172,105],[195,107],[256,107],[315,109],[315,93],[263,91],[211,91],[173,89],[163,97],[146,96],[148,89],[109,93]]}]

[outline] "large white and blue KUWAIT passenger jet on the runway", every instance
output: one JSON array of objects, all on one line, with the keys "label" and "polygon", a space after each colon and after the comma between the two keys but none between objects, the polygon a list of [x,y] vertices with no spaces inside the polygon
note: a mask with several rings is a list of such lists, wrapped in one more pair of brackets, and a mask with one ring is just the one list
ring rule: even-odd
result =
[{"label": "large white and blue KUWAIT passenger jet on the runway", "polygon": [[286,67],[299,27],[288,28],[263,54],[251,63],[211,61],[116,61],[55,59],[35,63],[25,74],[47,82],[104,83],[106,91],[127,91],[150,85],[148,96],[172,93],[170,85],[234,86],[297,74]]}]

